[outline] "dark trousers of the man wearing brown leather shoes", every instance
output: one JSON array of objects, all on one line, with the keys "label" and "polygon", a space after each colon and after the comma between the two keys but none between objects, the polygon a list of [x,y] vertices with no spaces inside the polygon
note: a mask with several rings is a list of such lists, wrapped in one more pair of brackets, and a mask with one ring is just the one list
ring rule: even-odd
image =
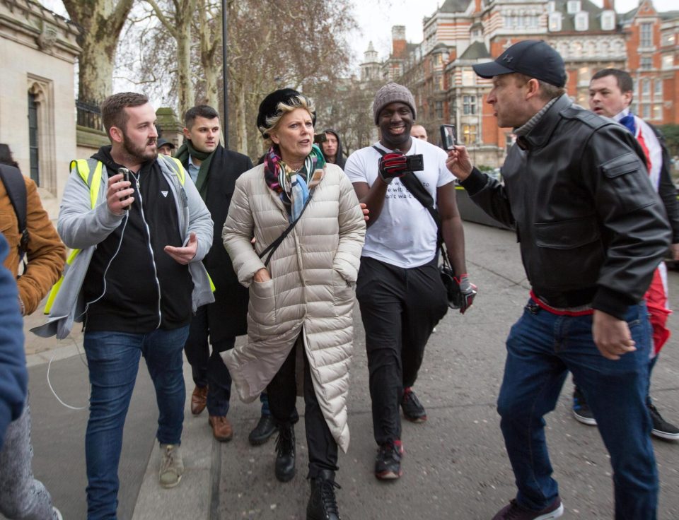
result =
[{"label": "dark trousers of the man wearing brown leather shoes", "polygon": [[212,353],[208,338],[210,335],[207,305],[198,307],[189,326],[189,337],[184,344],[186,359],[191,365],[193,382],[207,390],[207,412],[210,415],[226,415],[228,401],[231,399],[231,374],[221,360],[220,353],[233,348],[236,338],[226,338],[212,343]]}]

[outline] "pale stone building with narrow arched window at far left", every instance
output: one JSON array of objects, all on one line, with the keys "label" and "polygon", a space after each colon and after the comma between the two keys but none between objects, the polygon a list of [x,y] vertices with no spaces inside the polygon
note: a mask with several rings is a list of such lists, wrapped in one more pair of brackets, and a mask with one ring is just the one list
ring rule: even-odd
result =
[{"label": "pale stone building with narrow arched window at far left", "polygon": [[[0,0],[0,143],[7,143],[30,177],[28,99],[37,114],[37,183],[50,216],[56,216],[76,155],[74,63],[78,30],[28,0]],[[35,175],[34,175],[35,176]]]}]

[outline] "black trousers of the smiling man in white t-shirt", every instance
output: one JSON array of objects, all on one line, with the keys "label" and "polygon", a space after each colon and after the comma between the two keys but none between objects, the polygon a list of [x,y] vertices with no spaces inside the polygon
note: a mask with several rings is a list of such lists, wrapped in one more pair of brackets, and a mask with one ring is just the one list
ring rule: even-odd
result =
[{"label": "black trousers of the smiling man in white t-shirt", "polygon": [[399,403],[422,366],[424,347],[448,311],[437,259],[402,268],[361,257],[356,298],[366,330],[366,350],[378,444],[401,438]]}]

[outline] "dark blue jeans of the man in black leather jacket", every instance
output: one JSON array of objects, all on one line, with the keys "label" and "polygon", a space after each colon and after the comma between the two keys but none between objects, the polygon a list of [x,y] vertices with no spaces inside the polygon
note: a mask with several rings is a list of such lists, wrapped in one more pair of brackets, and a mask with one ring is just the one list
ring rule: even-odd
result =
[{"label": "dark blue jeans of the man in black leather jacket", "polygon": [[530,301],[513,325],[497,409],[521,506],[540,510],[559,495],[542,416],[554,410],[570,370],[610,454],[615,519],[656,519],[658,473],[646,408],[651,345],[646,305],[629,307],[626,320],[637,350],[617,361],[596,348],[591,315],[557,316]]}]

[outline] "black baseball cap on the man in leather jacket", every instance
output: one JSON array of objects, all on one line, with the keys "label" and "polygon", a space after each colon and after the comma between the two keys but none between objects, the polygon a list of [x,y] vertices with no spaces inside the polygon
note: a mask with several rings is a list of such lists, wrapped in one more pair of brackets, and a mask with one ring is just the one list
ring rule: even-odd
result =
[{"label": "black baseball cap on the man in leather jacket", "polygon": [[544,40],[523,40],[515,43],[495,61],[473,65],[472,68],[486,79],[518,72],[557,87],[566,84],[564,59]]}]

